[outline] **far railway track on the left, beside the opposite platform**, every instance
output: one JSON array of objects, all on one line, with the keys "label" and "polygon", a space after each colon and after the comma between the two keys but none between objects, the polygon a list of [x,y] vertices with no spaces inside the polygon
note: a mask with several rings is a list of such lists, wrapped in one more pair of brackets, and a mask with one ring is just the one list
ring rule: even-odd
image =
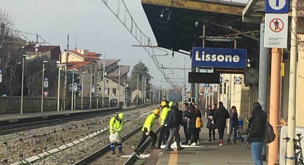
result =
[{"label": "far railway track on the left, beside the opposite platform", "polygon": [[116,112],[126,112],[126,111],[130,111],[130,110],[138,109],[138,108],[144,108],[147,106],[150,106],[150,104],[139,106],[139,107],[134,107],[134,108],[126,108],[126,109],[112,108],[111,111],[109,111],[108,109],[105,109],[105,110],[98,112],[97,114],[95,113],[95,114],[71,116],[71,117],[67,116],[67,117],[61,118],[61,119],[49,119],[49,120],[45,120],[45,121],[0,126],[0,135],[27,131],[30,129],[36,129],[36,128],[41,128],[41,127],[46,127],[46,126],[53,126],[53,125],[63,124],[63,123],[75,121],[75,120],[84,120],[84,119],[89,119],[89,118],[94,118],[94,117],[99,117],[99,116],[111,115]]}]

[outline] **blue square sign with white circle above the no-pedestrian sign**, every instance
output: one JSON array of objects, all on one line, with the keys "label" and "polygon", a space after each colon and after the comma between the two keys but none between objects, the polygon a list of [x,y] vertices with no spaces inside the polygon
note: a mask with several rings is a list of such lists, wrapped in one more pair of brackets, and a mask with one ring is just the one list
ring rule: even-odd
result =
[{"label": "blue square sign with white circle above the no-pedestrian sign", "polygon": [[288,0],[266,0],[266,13],[288,13]]}]

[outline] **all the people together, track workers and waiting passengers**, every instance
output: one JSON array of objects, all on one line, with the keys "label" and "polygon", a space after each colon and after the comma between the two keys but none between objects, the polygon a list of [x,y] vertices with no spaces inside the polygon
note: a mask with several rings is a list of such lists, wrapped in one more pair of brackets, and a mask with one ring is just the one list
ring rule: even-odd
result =
[{"label": "all the people together, track workers and waiting passengers", "polygon": [[[195,104],[192,102],[191,105],[188,103],[183,104],[184,111],[178,109],[179,105],[177,102],[162,101],[160,108],[155,109],[152,114],[150,114],[144,121],[142,132],[143,136],[140,143],[134,149],[136,153],[140,153],[140,146],[145,142],[145,140],[150,136],[152,137],[152,146],[158,143],[155,148],[160,149],[161,143],[163,142],[166,151],[173,151],[171,149],[171,144],[175,139],[177,150],[183,150],[181,144],[196,146],[200,145],[199,132],[203,126],[202,124],[202,113]],[[262,163],[262,148],[265,145],[263,142],[265,124],[267,121],[267,113],[262,110],[259,103],[254,103],[252,106],[252,116],[249,120],[248,125],[248,137],[247,142],[251,143],[251,154],[256,165],[261,165]],[[159,117],[159,124],[161,127],[160,134],[157,135],[153,132],[155,119]],[[209,129],[209,142],[215,141],[215,132],[218,131],[219,135],[219,146],[223,145],[224,130],[226,128],[226,120],[229,119],[229,134],[227,137],[227,143],[230,142],[230,136],[233,134],[233,144],[236,144],[237,131],[239,127],[239,120],[237,114],[237,108],[232,106],[228,112],[223,106],[222,102],[219,102],[219,106],[216,108],[216,104],[209,106],[206,109],[206,117],[208,119],[206,128]],[[115,154],[115,143],[118,143],[119,153],[122,154],[122,143],[120,137],[120,131],[123,125],[123,114],[118,113],[115,117],[110,120],[110,142],[112,153]],[[179,129],[183,126],[185,133],[185,142],[180,143]]]}]

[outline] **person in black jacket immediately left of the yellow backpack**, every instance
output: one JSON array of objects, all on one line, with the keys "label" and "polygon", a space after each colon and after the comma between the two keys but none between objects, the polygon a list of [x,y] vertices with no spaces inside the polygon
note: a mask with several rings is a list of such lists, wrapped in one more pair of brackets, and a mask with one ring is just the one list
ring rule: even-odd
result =
[{"label": "person in black jacket immediately left of the yellow backpack", "polygon": [[189,107],[189,113],[186,116],[187,118],[189,118],[189,129],[191,132],[191,146],[196,146],[197,140],[199,139],[199,129],[196,128],[195,124],[196,124],[196,118],[202,118],[202,114],[198,109],[195,109],[194,106],[190,106]]}]

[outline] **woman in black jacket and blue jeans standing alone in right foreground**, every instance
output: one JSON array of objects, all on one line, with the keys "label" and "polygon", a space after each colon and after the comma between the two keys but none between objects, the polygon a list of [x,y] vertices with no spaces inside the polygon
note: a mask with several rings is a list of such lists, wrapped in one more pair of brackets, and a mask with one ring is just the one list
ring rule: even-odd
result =
[{"label": "woman in black jacket and blue jeans standing alone in right foreground", "polygon": [[251,143],[251,155],[255,165],[262,165],[262,149],[265,143],[263,136],[265,133],[265,121],[267,113],[262,110],[260,103],[255,102],[251,108],[252,117],[248,125],[247,142]]}]

